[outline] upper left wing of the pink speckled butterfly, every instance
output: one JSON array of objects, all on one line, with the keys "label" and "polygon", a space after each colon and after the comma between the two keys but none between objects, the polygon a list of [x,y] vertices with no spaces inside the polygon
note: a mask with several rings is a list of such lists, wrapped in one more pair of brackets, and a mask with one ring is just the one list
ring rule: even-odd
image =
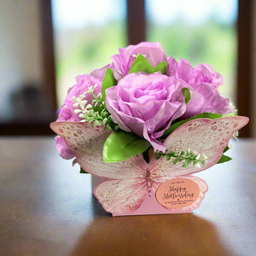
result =
[{"label": "upper left wing of the pink speckled butterfly", "polygon": [[50,127],[63,137],[76,161],[84,171],[100,177],[127,179],[143,177],[147,163],[142,155],[117,163],[106,163],[102,158],[103,144],[111,131],[105,126],[90,123],[54,122]]}]

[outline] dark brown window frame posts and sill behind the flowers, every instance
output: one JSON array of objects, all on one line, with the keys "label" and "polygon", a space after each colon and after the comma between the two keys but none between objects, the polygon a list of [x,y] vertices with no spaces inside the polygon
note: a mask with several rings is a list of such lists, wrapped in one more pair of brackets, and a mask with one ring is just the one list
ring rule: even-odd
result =
[{"label": "dark brown window frame posts and sill behind the flowers", "polygon": [[[55,83],[55,55],[54,35],[51,13],[51,1],[39,0],[41,9],[42,38],[43,38],[43,68],[44,91],[49,101],[57,109]],[[127,37],[129,44],[145,41],[147,24],[145,15],[145,0],[126,0],[127,7]],[[253,94],[253,49],[252,49],[252,20],[253,1],[238,0],[237,19],[237,69],[236,69],[236,97],[239,114],[251,117]],[[0,124],[2,135],[50,135],[53,132],[49,124]],[[252,137],[251,125],[244,127],[241,137]]]}]

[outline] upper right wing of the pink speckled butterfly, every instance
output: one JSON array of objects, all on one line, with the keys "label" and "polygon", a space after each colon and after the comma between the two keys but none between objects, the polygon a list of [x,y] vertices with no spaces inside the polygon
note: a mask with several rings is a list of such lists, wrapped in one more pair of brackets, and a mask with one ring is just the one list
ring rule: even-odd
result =
[{"label": "upper right wing of the pink speckled butterfly", "polygon": [[198,154],[205,154],[207,162],[201,166],[190,164],[183,167],[183,161],[176,165],[173,160],[155,155],[149,162],[151,177],[156,182],[165,182],[171,177],[188,175],[193,172],[201,172],[215,165],[221,158],[224,148],[228,146],[233,133],[248,122],[247,117],[230,116],[219,119],[193,119],[179,126],[177,130],[166,138],[165,146],[168,152],[180,153],[191,149]]}]

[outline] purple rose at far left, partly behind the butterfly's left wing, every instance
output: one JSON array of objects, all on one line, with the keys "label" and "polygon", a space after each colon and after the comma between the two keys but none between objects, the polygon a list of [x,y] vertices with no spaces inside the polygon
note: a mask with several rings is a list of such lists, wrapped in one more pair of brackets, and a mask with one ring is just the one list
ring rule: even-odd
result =
[{"label": "purple rose at far left, partly behind the butterfly's left wing", "polygon": [[[94,86],[95,84],[96,88],[94,91],[96,95],[102,90],[102,81],[93,76],[81,75],[76,78],[76,81],[77,84],[73,85],[67,92],[67,97],[61,107],[57,121],[79,122],[81,118],[79,117],[79,113],[74,113],[73,96],[79,97],[80,95],[84,95],[84,92],[88,91],[89,87]],[[90,93],[86,93],[84,95],[84,100],[87,100],[87,104],[89,104],[93,100],[93,96]],[[68,148],[64,139],[62,137],[56,137],[55,139],[56,147],[61,157],[64,159],[72,159],[74,155],[71,153],[71,150]]]}]

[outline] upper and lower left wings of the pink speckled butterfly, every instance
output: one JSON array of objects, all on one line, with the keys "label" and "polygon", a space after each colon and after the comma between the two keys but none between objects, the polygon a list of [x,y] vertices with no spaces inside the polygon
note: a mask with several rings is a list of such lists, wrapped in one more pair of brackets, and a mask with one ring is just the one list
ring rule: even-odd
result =
[{"label": "upper and lower left wings of the pink speckled butterfly", "polygon": [[107,212],[129,213],[141,206],[147,193],[145,172],[148,167],[142,155],[118,163],[105,163],[103,144],[111,131],[90,123],[55,122],[50,125],[63,137],[84,171],[112,178],[100,183],[94,195]]}]

